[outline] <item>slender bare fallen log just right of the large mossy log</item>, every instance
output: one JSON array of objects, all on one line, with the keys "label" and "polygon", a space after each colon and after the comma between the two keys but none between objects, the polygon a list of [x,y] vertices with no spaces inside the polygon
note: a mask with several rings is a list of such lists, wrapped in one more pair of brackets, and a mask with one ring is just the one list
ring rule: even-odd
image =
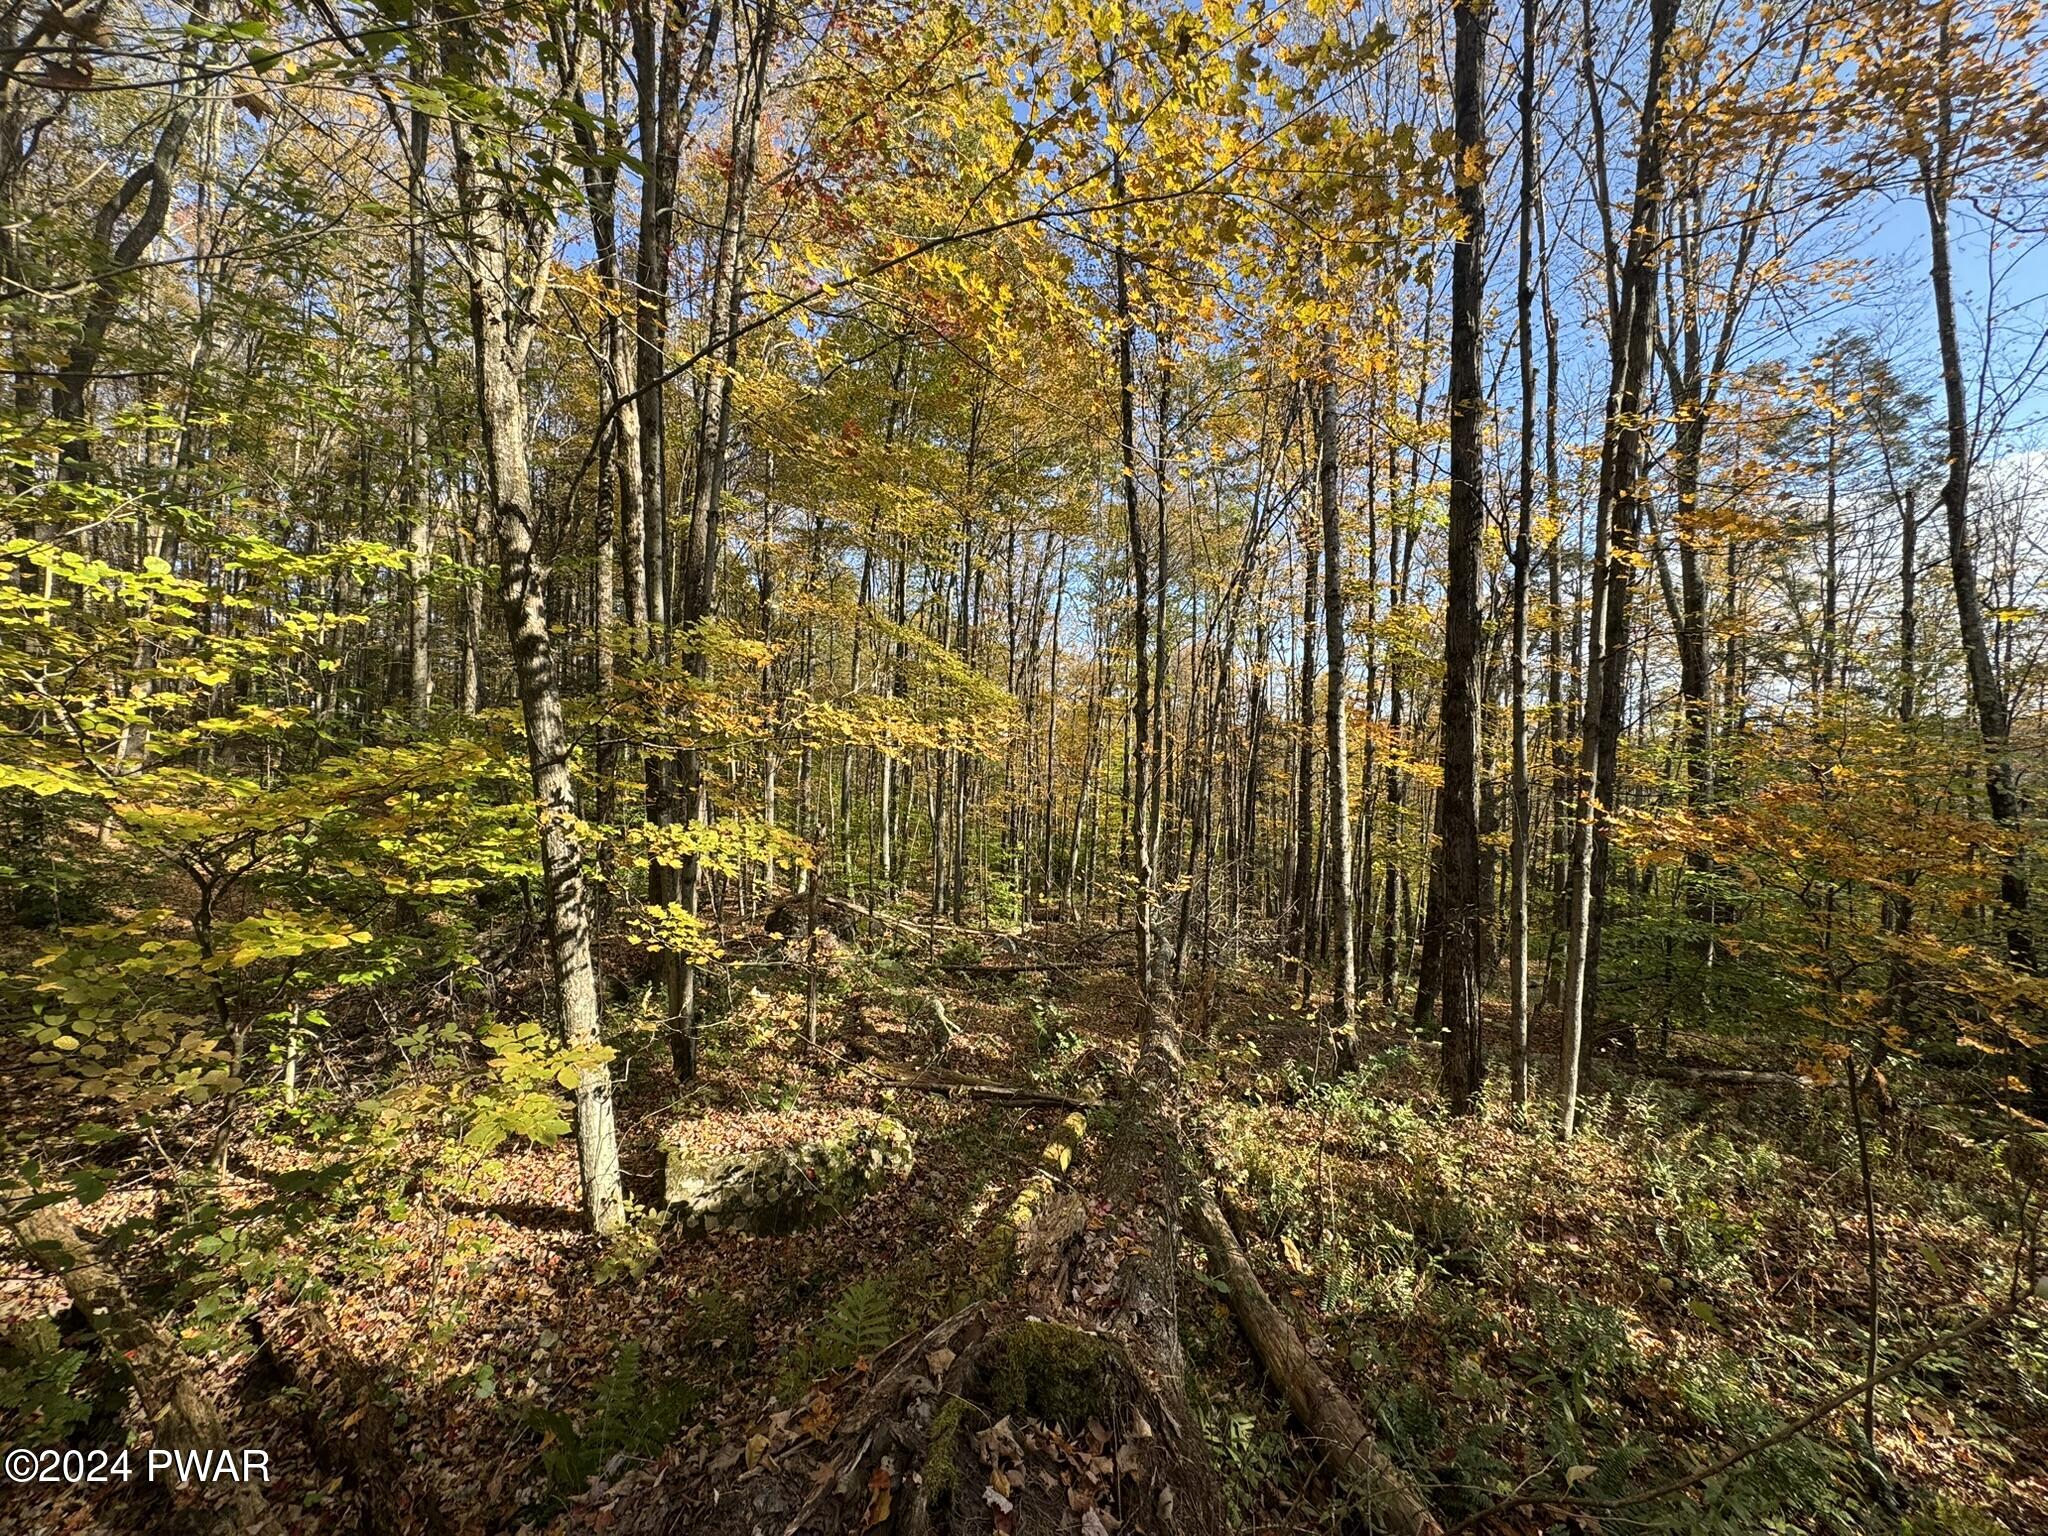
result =
[{"label": "slender bare fallen log just right of the large mossy log", "polygon": [[1217,1198],[1198,1188],[1190,1202],[1194,1235],[1208,1249],[1217,1272],[1231,1288],[1231,1311],[1251,1339],[1266,1374],[1286,1397],[1294,1419],[1323,1448],[1325,1458],[1346,1477],[1350,1489],[1372,1511],[1374,1530],[1393,1536],[1442,1536],[1442,1526],[1415,1483],[1395,1466],[1372,1438],[1372,1425],[1352,1407],[1323,1368],[1309,1358],[1300,1337],[1274,1307],[1251,1272],[1243,1247],[1223,1219]]}]

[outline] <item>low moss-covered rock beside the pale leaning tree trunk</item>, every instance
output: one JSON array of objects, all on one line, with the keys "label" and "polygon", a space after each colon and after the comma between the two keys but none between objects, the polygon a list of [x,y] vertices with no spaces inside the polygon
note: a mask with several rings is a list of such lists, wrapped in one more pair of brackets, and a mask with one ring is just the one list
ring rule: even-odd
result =
[{"label": "low moss-covered rock beside the pale leaning tree trunk", "polygon": [[883,1114],[848,1116],[823,1141],[739,1153],[670,1145],[666,1155],[678,1225],[758,1237],[827,1223],[913,1163],[909,1130]]}]

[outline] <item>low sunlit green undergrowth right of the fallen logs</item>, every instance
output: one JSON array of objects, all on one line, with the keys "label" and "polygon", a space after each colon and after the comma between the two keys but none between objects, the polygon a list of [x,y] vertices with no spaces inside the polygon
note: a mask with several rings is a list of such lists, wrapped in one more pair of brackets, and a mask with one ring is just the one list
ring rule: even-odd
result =
[{"label": "low sunlit green undergrowth right of the fallen logs", "polygon": [[[1253,1055],[1225,1047],[1212,1069]],[[1235,1094],[1210,1139],[1268,1284],[1313,1309],[1305,1331],[1446,1518],[1532,1481],[1597,1501],[1688,1479],[1862,1370],[1853,1130],[1823,1096],[1749,1106],[1626,1083],[1561,1143],[1505,1104],[1444,1118],[1409,1092],[1409,1065],[1391,1051],[1335,1083]],[[1888,1356],[2003,1294],[2011,1186],[1917,1122],[1874,1128],[1872,1165]],[[2017,1536],[2015,1425],[2048,1419],[2038,1333],[2015,1325],[1880,1391],[1876,1444],[1851,1407],[1630,1507],[1628,1528]],[[1235,1403],[1204,1423],[1233,1518],[1272,1511],[1288,1477]],[[1964,1464],[1982,1475],[1950,1481]]]}]

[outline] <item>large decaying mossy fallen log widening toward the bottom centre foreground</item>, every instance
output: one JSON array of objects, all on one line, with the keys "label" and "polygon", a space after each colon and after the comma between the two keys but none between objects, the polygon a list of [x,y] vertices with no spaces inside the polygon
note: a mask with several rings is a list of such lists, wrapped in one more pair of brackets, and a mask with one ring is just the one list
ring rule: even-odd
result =
[{"label": "large decaying mossy fallen log widening toward the bottom centre foreground", "polygon": [[[821,1460],[809,1473],[801,1464],[772,1468],[784,1487],[803,1489],[784,1536],[864,1532],[885,1522],[897,1536],[985,1532],[981,1483],[1004,1499],[1006,1513],[1014,1501],[1016,1530],[1071,1528],[1081,1509],[1071,1499],[1081,1489],[1026,1477],[1020,1462],[1051,1477],[1044,1458],[1083,1436],[1098,1436],[1098,1456],[1114,1460],[1094,1497],[1116,1499],[1122,1528],[1174,1536],[1229,1530],[1188,1403],[1180,1343],[1182,1094],[1169,1004],[1153,1004],[1145,1036],[1110,1151],[1112,1204],[1130,1214],[1098,1255],[1118,1282],[1114,1315],[1069,1311],[1059,1305],[1061,1284],[1034,1284],[1034,1276],[1063,1272],[1075,1243],[1081,1253],[1073,1262],[1090,1257],[1087,1212],[1057,1188],[1057,1171],[1071,1163],[1085,1130],[1073,1114],[1004,1217],[1004,1235],[1018,1235],[1010,1290],[885,1350],[854,1407],[840,1413]],[[983,1473],[997,1460],[991,1438],[1004,1442],[999,1460],[1012,1468],[1004,1487],[993,1470]]]}]

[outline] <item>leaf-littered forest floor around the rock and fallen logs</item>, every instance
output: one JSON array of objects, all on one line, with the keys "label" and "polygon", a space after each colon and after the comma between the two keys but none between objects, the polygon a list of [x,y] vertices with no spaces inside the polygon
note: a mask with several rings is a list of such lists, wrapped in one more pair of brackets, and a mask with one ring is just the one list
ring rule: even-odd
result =
[{"label": "leaf-littered forest floor around the rock and fallen logs", "polygon": [[[651,1210],[666,1133],[760,1147],[850,1112],[899,1118],[913,1171],[821,1229],[690,1235],[647,1214],[602,1249],[580,1231],[569,1141],[451,1149],[401,1126],[385,1192],[309,1227],[293,1255],[317,1282],[311,1307],[332,1348],[281,1370],[295,1335],[272,1321],[270,1350],[240,1329],[207,1356],[229,1421],[272,1456],[274,1528],[358,1530],[365,1501],[381,1499],[385,1518],[465,1534],[780,1536],[872,1362],[1004,1284],[989,1239],[1069,1114],[1061,1098],[1087,1106],[1090,1122],[1063,1184],[1090,1235],[1112,1233],[1100,1153],[1139,1016],[1114,946],[1038,930],[1030,954],[1069,969],[981,975],[881,948],[836,954],[817,1047],[801,1036],[801,969],[741,971],[686,1092],[645,999],[629,995],[612,1020],[625,1165]],[[1014,946],[961,940],[946,954],[983,958],[1012,963]],[[2048,1532],[2048,1329],[2025,1311],[1884,1384],[1874,1444],[1858,1401],[1667,1499],[1604,1520],[1573,1505],[1683,1479],[1860,1376],[1866,1225],[1841,1092],[1694,1092],[1608,1063],[1567,1145],[1516,1126],[1499,1100],[1477,1122],[1446,1118],[1434,1053],[1393,1030],[1331,1083],[1313,1020],[1270,969],[1210,977],[1184,1006],[1192,1145],[1268,1290],[1446,1524],[1534,1489],[1559,1497],[1477,1530]],[[1712,1042],[1677,1047],[1710,1055]],[[381,1079],[336,1075],[326,1094],[453,1104],[479,1073],[473,1047],[416,1049]],[[934,1077],[1042,1098],[948,1092]],[[1903,1108],[1872,1137],[1880,1360],[2001,1298],[2011,1264],[1997,1159],[1913,1106],[1911,1071],[1894,1077]],[[254,1128],[242,1174],[289,1167],[295,1135],[289,1120]],[[137,1178],[82,1225],[145,1229],[166,1198]],[[150,1262],[131,1231],[125,1272]],[[47,1280],[6,1264],[0,1323],[57,1313]],[[1217,1282],[1198,1264],[1186,1276],[1190,1399],[1237,1528],[1356,1530]],[[1053,1284],[1085,1307],[1102,1282],[1067,1266]],[[272,1305],[244,1300],[258,1319]],[[1001,1493],[1016,1499],[1022,1477],[1063,1497],[1047,1530],[1114,1532],[1116,1442],[1133,1427],[1071,1417],[1087,1421],[1018,1417],[1008,1438],[965,1442],[969,1493],[954,1497],[952,1528],[1004,1528]],[[119,1425],[100,1430],[119,1438]],[[340,1442],[352,1450],[338,1456]],[[8,1487],[0,1526],[158,1530],[160,1497],[139,1483],[57,1497]]]}]

